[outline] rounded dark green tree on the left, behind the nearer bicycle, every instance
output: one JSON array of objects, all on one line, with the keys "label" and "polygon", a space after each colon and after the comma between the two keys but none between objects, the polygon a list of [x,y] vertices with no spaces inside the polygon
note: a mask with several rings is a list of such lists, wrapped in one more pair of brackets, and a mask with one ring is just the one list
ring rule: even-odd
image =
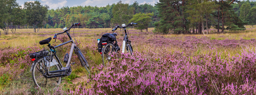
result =
[{"label": "rounded dark green tree on the left, behind the nearer bicycle", "polygon": [[46,20],[46,13],[49,6],[41,5],[40,2],[25,2],[24,9],[26,10],[26,21],[28,25],[33,27],[34,32],[39,31],[40,27],[43,26],[43,21]]}]

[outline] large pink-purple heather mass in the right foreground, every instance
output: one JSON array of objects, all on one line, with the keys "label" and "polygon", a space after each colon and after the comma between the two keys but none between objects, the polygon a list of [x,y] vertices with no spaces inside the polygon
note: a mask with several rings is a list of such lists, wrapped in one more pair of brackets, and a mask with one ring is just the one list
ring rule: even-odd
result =
[{"label": "large pink-purple heather mass in the right foreground", "polygon": [[[76,86],[70,94],[248,94],[254,93],[255,57],[252,49],[222,58],[183,52],[135,52],[114,56],[106,67],[92,69],[90,83]],[[250,63],[250,65],[249,65]],[[89,87],[89,88],[88,88]],[[91,87],[91,88],[90,88]]]}]

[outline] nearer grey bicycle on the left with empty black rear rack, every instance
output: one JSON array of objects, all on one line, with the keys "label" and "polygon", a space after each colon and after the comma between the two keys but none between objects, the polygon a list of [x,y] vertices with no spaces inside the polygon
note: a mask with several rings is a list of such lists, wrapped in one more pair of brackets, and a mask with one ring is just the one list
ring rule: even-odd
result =
[{"label": "nearer grey bicycle on the left with empty black rear rack", "polygon": [[[78,26],[80,25],[80,23],[75,23],[70,28],[72,28],[74,25]],[[78,59],[81,62],[82,67],[85,67],[86,71],[88,71],[88,73],[90,74],[90,71],[88,70],[89,65],[87,60],[85,59],[81,50],[77,47],[77,45],[75,44],[74,40],[71,38],[68,32],[70,28],[63,28],[64,32],[55,33],[53,37],[53,39],[55,39],[56,42],[57,36],[59,34],[66,33],[70,39],[69,41],[59,44],[57,46],[51,46],[50,37],[39,42],[39,44],[41,45],[48,44],[50,52],[43,50],[29,54],[31,61],[33,62],[30,71],[32,71],[32,79],[37,87],[58,87],[59,84],[61,84],[61,78],[69,76],[72,73],[71,66],[74,65],[74,63],[70,63],[70,60],[72,58],[72,53],[74,50],[75,54],[78,56]],[[69,54],[65,55],[64,62],[67,64],[66,67],[63,67],[59,58],[56,55],[55,48],[63,46],[67,43],[72,43],[72,46]]]}]

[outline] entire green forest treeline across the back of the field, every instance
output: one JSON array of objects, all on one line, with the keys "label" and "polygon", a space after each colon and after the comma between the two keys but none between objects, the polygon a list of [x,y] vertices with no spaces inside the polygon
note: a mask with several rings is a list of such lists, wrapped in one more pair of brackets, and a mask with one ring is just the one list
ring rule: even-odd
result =
[{"label": "entire green forest treeline across the back of the field", "polygon": [[[238,0],[159,0],[155,5],[118,3],[98,6],[63,6],[49,9],[40,2],[25,2],[24,8],[16,0],[0,0],[0,28],[5,34],[16,28],[64,28],[75,22],[78,28],[112,28],[130,22],[139,23],[137,29],[155,27],[162,33],[203,33],[210,28],[245,30],[244,25],[256,24],[256,2]],[[1,35],[1,31],[0,31]]]}]

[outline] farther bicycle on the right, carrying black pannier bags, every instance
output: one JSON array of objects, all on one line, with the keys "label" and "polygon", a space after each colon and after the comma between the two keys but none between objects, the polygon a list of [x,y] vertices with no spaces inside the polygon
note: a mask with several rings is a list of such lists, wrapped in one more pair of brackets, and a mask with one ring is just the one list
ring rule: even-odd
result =
[{"label": "farther bicycle on the right, carrying black pannier bags", "polygon": [[[123,47],[122,47],[122,53],[125,52],[125,48],[126,51],[130,54],[133,55],[133,46],[131,46],[131,41],[128,39],[129,36],[129,32],[128,30],[126,31],[126,27],[128,26],[134,26],[134,25],[138,25],[137,23],[133,23],[131,22],[128,25],[122,24],[122,27],[120,27],[119,25],[115,26],[115,28],[112,30],[112,34],[114,36],[117,36],[115,32],[115,30],[117,30],[117,28],[123,28],[123,30],[125,31],[125,36],[123,36]],[[127,33],[128,32],[128,33]],[[116,53],[120,50],[120,47],[117,44],[117,41],[109,41],[109,38],[107,37],[103,37],[102,38],[102,52],[101,53],[101,57],[102,57],[102,64],[105,65],[105,63],[108,63],[111,60],[111,54]]]}]

